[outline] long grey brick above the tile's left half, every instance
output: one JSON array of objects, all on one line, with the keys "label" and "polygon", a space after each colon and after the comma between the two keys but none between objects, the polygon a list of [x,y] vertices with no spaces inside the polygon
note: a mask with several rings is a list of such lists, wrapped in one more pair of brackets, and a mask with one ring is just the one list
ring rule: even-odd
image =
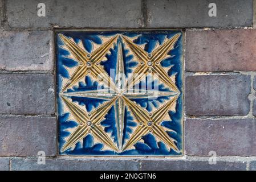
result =
[{"label": "long grey brick above the tile's left half", "polygon": [[37,15],[42,1],[7,1],[10,27],[140,27],[141,1],[45,0],[46,16]]}]

